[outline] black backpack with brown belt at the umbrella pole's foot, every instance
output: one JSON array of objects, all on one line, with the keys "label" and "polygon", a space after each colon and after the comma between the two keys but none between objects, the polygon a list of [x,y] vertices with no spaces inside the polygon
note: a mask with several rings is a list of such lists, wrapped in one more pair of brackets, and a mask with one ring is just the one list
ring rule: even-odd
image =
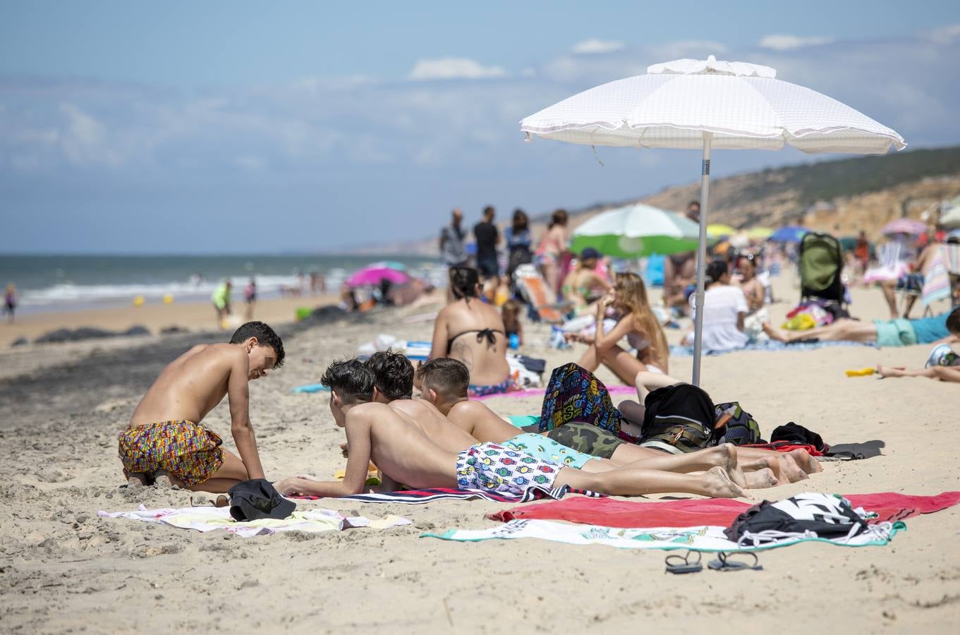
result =
[{"label": "black backpack with brown belt at the umbrella pole's foot", "polygon": [[713,403],[703,389],[689,383],[658,388],[647,395],[644,405],[638,445],[671,454],[715,445]]}]

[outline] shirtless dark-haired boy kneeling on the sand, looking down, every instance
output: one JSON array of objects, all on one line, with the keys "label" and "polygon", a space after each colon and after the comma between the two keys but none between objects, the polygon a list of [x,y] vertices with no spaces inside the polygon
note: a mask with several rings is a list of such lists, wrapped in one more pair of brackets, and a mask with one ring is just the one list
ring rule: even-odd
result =
[{"label": "shirtless dark-haired boy kneeling on the sand, looking down", "polygon": [[[120,461],[128,483],[153,481],[219,494],[241,481],[263,478],[250,423],[248,382],[278,368],[283,355],[283,343],[273,329],[248,322],[229,344],[201,344],[172,361],[120,433]],[[225,395],[239,457],[221,447],[216,432],[200,425]]]}]

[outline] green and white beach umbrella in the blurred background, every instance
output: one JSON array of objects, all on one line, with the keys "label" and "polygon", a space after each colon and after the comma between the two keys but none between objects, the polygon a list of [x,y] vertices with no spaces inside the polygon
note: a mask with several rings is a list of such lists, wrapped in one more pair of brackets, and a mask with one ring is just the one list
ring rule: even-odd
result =
[{"label": "green and white beach umbrella in the blurred background", "polygon": [[699,232],[696,223],[680,214],[637,204],[589,219],[573,232],[571,250],[579,254],[592,247],[621,258],[683,254],[697,250]]}]

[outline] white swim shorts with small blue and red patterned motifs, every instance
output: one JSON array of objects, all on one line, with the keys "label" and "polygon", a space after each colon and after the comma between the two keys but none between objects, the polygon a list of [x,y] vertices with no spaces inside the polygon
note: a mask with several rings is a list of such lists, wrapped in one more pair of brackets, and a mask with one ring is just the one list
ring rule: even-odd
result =
[{"label": "white swim shorts with small blue and red patterned motifs", "polygon": [[495,443],[480,443],[457,455],[457,487],[520,496],[534,485],[553,489],[563,467]]}]

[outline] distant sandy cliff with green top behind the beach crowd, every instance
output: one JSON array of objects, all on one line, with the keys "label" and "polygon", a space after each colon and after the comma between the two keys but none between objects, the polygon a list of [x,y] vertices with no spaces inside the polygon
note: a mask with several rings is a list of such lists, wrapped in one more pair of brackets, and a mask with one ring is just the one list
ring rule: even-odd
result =
[{"label": "distant sandy cliff with green top behind the beach crowd", "polygon": [[[872,239],[895,218],[921,219],[960,194],[960,147],[913,150],[771,168],[710,181],[709,222],[735,228],[804,225],[835,235],[863,230]],[[645,203],[683,210],[700,198],[700,183],[672,186],[642,198],[569,209],[571,226],[609,208]],[[535,235],[549,211],[534,217]],[[437,237],[383,243],[356,254],[437,255]]]}]

